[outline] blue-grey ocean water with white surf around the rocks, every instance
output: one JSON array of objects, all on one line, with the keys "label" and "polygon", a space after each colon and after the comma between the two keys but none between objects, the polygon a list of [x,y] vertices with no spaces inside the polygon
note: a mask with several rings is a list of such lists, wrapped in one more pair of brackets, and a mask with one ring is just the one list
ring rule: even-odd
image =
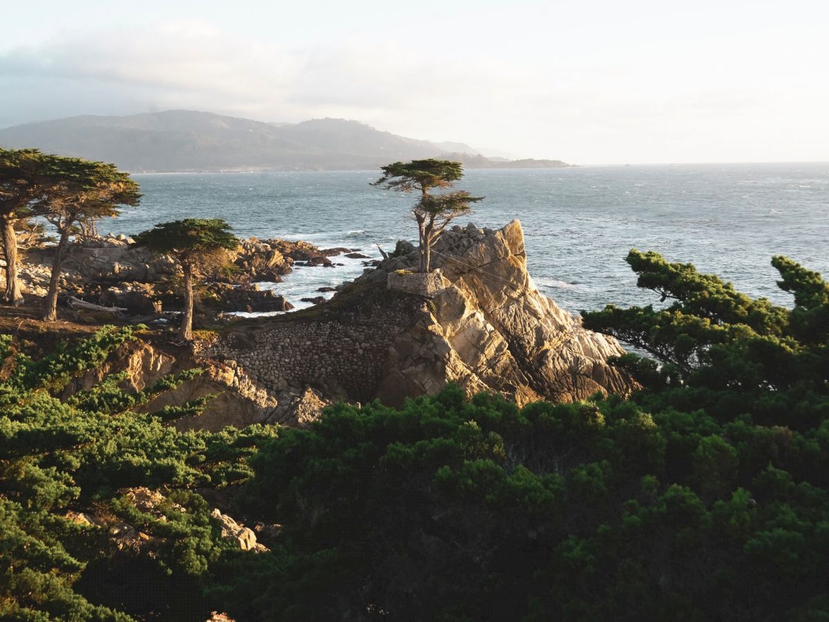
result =
[{"label": "blue-grey ocean water with white surf around the rocks", "polygon": [[[221,217],[239,236],[347,246],[380,257],[416,241],[406,216],[414,198],[369,186],[376,171],[141,174],[143,201],[101,224],[134,234],[157,222]],[[772,255],[829,275],[829,163],[696,164],[470,170],[458,188],[484,196],[463,217],[497,228],[518,218],[530,274],[565,309],[647,304],[624,262],[631,248],[656,250],[730,280],[747,294],[791,304],[775,285]],[[297,268],[262,284],[299,308],[316,289],[360,275],[360,260]],[[326,294],[330,296],[330,294]]]}]

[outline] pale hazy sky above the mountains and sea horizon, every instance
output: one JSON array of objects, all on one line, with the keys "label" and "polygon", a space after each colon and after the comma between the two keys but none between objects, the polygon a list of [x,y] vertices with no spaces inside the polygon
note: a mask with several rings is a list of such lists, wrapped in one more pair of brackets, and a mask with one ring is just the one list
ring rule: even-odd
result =
[{"label": "pale hazy sky above the mountains and sea horizon", "polygon": [[829,161],[829,0],[2,2],[0,127],[172,108],[573,163]]}]

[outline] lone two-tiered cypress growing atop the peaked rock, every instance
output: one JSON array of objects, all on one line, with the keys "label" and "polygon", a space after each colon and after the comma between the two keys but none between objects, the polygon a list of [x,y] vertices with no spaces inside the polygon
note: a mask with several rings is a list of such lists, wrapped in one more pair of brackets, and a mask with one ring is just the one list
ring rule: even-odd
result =
[{"label": "lone two-tiered cypress growing atop the peaked rock", "polygon": [[470,203],[483,201],[465,190],[430,194],[438,188],[453,187],[463,177],[463,165],[449,160],[412,160],[395,162],[382,167],[383,176],[372,186],[395,192],[420,192],[420,199],[412,207],[420,240],[420,272],[429,272],[432,244],[446,226],[461,214],[471,214]]}]

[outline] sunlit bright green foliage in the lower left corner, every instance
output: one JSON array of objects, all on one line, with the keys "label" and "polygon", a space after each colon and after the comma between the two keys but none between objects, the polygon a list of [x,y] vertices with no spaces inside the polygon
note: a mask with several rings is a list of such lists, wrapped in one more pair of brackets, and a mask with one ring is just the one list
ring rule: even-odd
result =
[{"label": "sunlit bright green foliage in the lower left corner", "polygon": [[[163,425],[174,415],[197,414],[209,398],[158,413],[132,410],[200,370],[162,378],[133,393],[119,389],[124,374],[114,374],[65,401],[56,397],[70,381],[99,367],[110,352],[135,338],[134,333],[134,328],[105,327],[84,343],[61,346],[40,361],[17,355],[7,381],[0,383],[3,620],[128,620],[117,611],[126,595],[115,595],[108,606],[99,606],[73,588],[77,583],[85,594],[106,598],[99,582],[78,582],[90,563],[104,574],[107,568],[114,571],[127,563],[132,566],[130,581],[138,581],[138,589],[143,589],[140,581],[161,572],[167,584],[188,586],[187,593],[198,595],[211,563],[231,554],[233,547],[221,540],[210,508],[187,488],[224,486],[248,477],[245,459],[259,442],[274,435],[274,428],[210,434],[179,433]],[[10,338],[0,338],[3,357],[10,345]],[[162,507],[166,520],[139,512],[119,492],[138,486],[164,488],[167,503],[178,503],[186,512]],[[119,552],[105,527],[64,518],[70,510],[128,522],[156,538],[152,551]],[[142,568],[144,574],[136,574]],[[140,611],[140,603],[134,606]],[[204,620],[210,611],[206,601],[198,599],[193,606],[201,606],[201,613],[196,609],[188,615]]]}]

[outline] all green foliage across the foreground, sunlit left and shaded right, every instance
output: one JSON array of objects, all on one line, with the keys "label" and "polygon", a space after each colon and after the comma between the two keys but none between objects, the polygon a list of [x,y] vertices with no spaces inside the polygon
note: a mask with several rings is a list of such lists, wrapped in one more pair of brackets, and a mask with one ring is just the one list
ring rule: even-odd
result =
[{"label": "all green foliage across the foreground, sunlit left and shaded right", "polygon": [[[447,386],[307,429],[181,433],[165,422],[205,400],[148,404],[185,376],[66,391],[140,328],[41,360],[5,338],[0,615],[824,619],[829,285],[775,257],[790,309],[655,253],[628,263],[654,304],[584,314],[647,352],[616,362],[641,383],[628,398],[519,408]],[[222,536],[217,494],[279,523],[269,550]]]}]

